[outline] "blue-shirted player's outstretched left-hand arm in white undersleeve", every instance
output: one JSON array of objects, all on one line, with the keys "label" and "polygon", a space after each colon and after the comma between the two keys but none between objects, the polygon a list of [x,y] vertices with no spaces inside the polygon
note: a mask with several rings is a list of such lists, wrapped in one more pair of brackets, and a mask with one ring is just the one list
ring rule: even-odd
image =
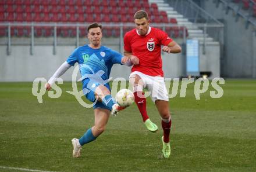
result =
[{"label": "blue-shirted player's outstretched left-hand arm in white undersleeve", "polygon": [[56,78],[59,78],[61,75],[63,75],[70,67],[71,65],[65,61],[45,84],[45,89],[48,91],[51,90],[51,85],[55,82]]}]

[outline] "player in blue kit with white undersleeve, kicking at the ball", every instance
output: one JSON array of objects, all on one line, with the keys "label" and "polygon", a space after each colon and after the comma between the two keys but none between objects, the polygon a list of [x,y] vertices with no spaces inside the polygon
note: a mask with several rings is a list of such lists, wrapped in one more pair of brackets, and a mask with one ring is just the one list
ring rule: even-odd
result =
[{"label": "player in blue kit with white undersleeve, kicking at the ball", "polygon": [[80,149],[84,144],[94,141],[105,130],[110,112],[112,111],[112,115],[116,115],[118,111],[123,109],[111,97],[108,79],[112,65],[131,65],[128,57],[122,56],[108,47],[101,46],[102,26],[100,24],[88,25],[87,32],[90,44],[75,49],[45,85],[45,88],[50,90],[56,78],[59,78],[75,63],[79,63],[84,95],[91,102],[97,101],[93,106],[94,126],[88,129],[80,139],[72,139],[74,158],[80,156]]}]

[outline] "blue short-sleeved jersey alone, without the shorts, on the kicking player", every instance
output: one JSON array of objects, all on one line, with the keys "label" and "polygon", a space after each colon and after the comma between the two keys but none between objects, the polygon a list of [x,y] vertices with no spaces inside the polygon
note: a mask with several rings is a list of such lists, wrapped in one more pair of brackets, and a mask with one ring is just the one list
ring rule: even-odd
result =
[{"label": "blue short-sleeved jersey alone, without the shorts, on the kicking player", "polygon": [[[79,63],[82,79],[90,78],[107,80],[113,64],[122,64],[122,54],[101,46],[99,49],[92,49],[88,45],[77,47],[67,58],[67,63],[74,65]],[[95,75],[97,74],[97,75]]]}]

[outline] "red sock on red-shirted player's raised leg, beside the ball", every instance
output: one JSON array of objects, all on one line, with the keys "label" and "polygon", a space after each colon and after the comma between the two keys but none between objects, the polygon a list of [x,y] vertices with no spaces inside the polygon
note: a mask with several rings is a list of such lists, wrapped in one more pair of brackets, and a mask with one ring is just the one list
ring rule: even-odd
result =
[{"label": "red sock on red-shirted player's raised leg, beside the ball", "polygon": [[134,92],[134,101],[137,104],[138,109],[140,110],[140,114],[143,118],[143,122],[145,122],[145,120],[147,120],[148,114],[147,114],[147,102],[146,102],[146,98],[144,96],[143,92]]}]

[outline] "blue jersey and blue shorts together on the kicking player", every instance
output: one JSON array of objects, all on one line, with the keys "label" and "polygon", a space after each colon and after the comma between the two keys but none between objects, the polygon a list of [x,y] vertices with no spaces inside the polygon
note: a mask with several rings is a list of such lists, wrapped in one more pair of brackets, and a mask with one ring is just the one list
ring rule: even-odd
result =
[{"label": "blue jersey and blue shorts together on the kicking player", "polygon": [[95,102],[95,89],[99,85],[106,86],[110,91],[109,75],[113,64],[122,64],[122,54],[101,46],[92,49],[88,45],[80,46],[67,58],[67,63],[74,65],[79,63],[83,92],[88,100],[94,102],[93,108],[105,108],[111,110],[99,101]]}]

